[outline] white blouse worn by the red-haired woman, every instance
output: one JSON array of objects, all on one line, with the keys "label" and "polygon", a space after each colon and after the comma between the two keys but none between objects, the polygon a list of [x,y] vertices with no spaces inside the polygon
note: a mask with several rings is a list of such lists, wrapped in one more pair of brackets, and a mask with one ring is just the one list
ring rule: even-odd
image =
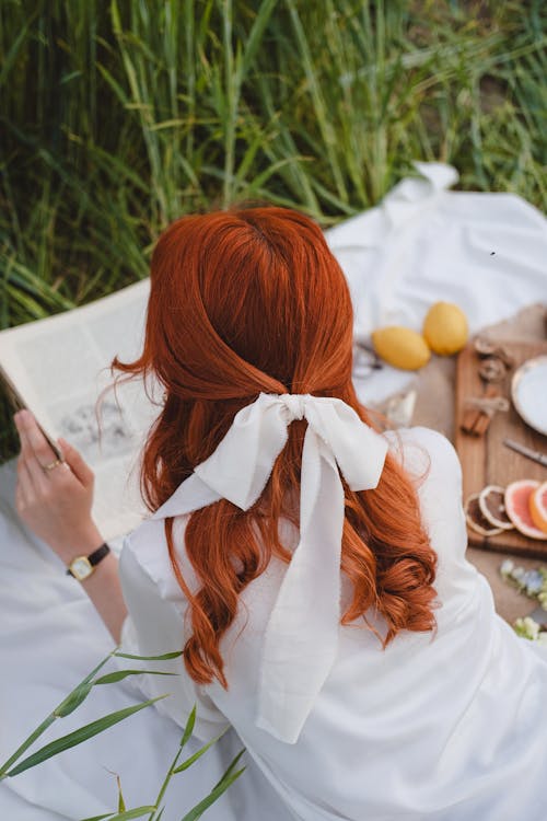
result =
[{"label": "white blouse worn by the red-haired woman", "polygon": [[[257,726],[264,635],[287,571],[274,558],[242,593],[221,643],[228,690],[196,685],[181,660],[163,662],[178,677],[156,707],[184,726],[197,704],[202,740],[232,725],[296,819],[543,821],[547,655],[494,613],[488,582],[465,558],[462,475],[452,444],[426,428],[384,436],[416,479],[439,555],[437,631],[400,633],[383,650],[362,621],[340,627],[335,664],[302,731],[294,743],[280,741]],[[193,588],[183,546],[187,518],[175,519],[174,539]],[[289,548],[296,536],[286,524]],[[186,602],[163,520],[148,520],[126,539],[120,577],[129,611],[124,649],[156,655],[181,648]],[[342,579],[342,599],[348,594]],[[382,632],[381,622],[376,626]],[[147,696],[165,692],[165,680],[155,677],[139,684]]]}]

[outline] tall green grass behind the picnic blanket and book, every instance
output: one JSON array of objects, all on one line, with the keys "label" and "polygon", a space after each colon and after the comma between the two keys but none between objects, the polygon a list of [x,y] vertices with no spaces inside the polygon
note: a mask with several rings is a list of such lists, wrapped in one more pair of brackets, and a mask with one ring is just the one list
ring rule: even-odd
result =
[{"label": "tall green grass behind the picnic blanket and book", "polygon": [[147,276],[183,212],[259,199],[327,227],[415,159],[545,208],[546,20],[542,0],[3,0],[0,327]]}]

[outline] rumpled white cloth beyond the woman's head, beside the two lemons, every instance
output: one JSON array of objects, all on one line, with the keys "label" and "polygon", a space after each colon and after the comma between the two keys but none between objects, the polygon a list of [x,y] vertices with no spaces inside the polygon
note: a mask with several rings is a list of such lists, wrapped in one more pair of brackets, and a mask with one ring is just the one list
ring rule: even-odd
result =
[{"label": "rumpled white cloth beyond the woman's head, beside the two lemons", "polygon": [[[457,171],[416,162],[420,177],[398,183],[375,208],[325,232],[348,279],[356,337],[383,325],[421,331],[433,302],[455,302],[470,333],[547,300],[547,220],[509,193],[449,190]],[[356,377],[364,404],[412,379],[385,366]]]}]

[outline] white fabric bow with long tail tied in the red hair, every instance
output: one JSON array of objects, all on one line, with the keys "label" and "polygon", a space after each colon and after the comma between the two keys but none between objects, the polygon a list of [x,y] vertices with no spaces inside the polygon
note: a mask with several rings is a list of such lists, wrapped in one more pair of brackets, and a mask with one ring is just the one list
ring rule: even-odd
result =
[{"label": "white fabric bow with long tail tied in the red hair", "polygon": [[221,498],[247,510],[259,498],[288,439],[306,419],[300,542],[287,567],[263,643],[255,724],[294,743],[330,672],[340,625],[344,487],[376,487],[386,440],[345,402],[310,394],[265,394],[240,410],[217,450],[152,519],[179,516]]}]

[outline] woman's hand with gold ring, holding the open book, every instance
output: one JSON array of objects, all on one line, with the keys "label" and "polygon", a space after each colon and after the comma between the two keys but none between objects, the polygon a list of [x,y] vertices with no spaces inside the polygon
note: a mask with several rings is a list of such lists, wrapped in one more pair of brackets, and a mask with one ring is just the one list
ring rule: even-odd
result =
[{"label": "woman's hand with gold ring, holding the open book", "polygon": [[15,508],[21,519],[69,565],[98,547],[103,537],[92,517],[94,474],[75,448],[60,439],[56,454],[30,410],[14,417],[21,440]]}]

